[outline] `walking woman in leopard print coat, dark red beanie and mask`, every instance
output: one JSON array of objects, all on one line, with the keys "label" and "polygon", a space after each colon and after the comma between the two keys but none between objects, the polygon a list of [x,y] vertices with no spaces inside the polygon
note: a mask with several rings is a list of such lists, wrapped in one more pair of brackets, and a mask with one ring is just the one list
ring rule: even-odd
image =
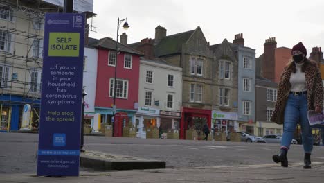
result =
[{"label": "walking woman in leopard print coat, dark red beanie and mask", "polygon": [[307,111],[322,111],[323,84],[317,64],[306,58],[307,51],[302,42],[292,48],[291,54],[293,61],[287,64],[282,73],[275,110],[271,116],[271,121],[283,124],[280,153],[273,155],[272,159],[276,163],[281,162],[283,167],[288,166],[287,152],[300,121],[305,153],[303,168],[311,168],[313,136]]}]

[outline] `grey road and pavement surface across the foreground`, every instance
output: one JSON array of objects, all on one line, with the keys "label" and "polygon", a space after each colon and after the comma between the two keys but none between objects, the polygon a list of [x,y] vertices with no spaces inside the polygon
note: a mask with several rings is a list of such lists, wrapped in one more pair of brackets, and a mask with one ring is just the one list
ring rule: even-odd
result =
[{"label": "grey road and pavement surface across the foreground", "polygon": [[165,169],[96,171],[79,177],[36,177],[37,134],[0,134],[0,182],[323,182],[324,146],[314,146],[312,169],[303,147],[291,146],[289,167],[271,160],[278,144],[86,137],[89,152],[166,162]]}]

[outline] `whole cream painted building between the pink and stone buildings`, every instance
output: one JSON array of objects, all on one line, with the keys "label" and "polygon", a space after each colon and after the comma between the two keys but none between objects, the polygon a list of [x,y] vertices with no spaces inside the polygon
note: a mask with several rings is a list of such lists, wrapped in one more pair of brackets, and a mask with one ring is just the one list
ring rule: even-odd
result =
[{"label": "whole cream painted building between the pink and stone buildings", "polygon": [[182,103],[182,69],[161,59],[141,58],[136,112],[137,137],[147,128],[179,130]]}]

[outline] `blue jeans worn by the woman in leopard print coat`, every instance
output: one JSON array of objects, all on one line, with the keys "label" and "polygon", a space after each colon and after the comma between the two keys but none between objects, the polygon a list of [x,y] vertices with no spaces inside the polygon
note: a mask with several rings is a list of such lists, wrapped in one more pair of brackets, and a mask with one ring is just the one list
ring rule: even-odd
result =
[{"label": "blue jeans worn by the woman in leopard print coat", "polygon": [[312,128],[307,119],[307,111],[307,94],[289,94],[285,108],[284,132],[282,134],[281,146],[290,147],[297,123],[300,122],[304,152],[312,152],[313,135]]}]

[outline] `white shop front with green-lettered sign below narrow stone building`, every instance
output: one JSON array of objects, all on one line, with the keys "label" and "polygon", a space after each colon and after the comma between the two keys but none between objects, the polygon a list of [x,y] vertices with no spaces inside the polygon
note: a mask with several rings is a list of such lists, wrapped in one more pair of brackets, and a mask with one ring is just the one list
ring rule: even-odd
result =
[{"label": "white shop front with green-lettered sign below narrow stone building", "polygon": [[238,132],[239,123],[237,123],[238,114],[236,112],[212,111],[213,126],[215,132],[227,133]]}]

